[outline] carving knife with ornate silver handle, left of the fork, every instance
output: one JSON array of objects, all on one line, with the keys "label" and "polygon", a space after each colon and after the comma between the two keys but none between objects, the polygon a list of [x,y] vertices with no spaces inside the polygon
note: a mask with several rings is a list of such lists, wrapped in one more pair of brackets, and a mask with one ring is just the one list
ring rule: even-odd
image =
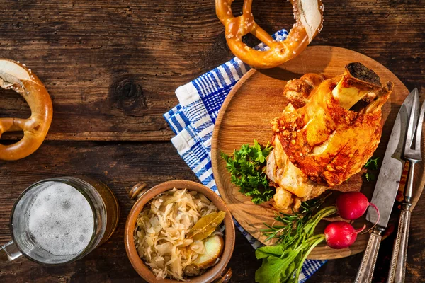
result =
[{"label": "carving knife with ornate silver handle, left of the fork", "polygon": [[[376,181],[375,190],[373,191],[373,197],[370,201],[378,207],[380,219],[372,233],[370,233],[368,246],[356,275],[356,283],[372,282],[373,270],[375,269],[376,257],[378,256],[382,238],[381,234],[387,228],[388,221],[390,220],[400,178],[402,177],[402,170],[405,162],[402,159],[402,153],[404,151],[404,141],[406,139],[407,125],[410,111],[412,110],[413,100],[414,94],[410,93],[399,109],[394,126],[392,127],[390,140],[388,141],[387,150],[382,160],[382,166],[378,175],[378,180]],[[372,224],[375,224],[378,220],[378,214],[373,207],[369,207],[368,213],[366,214],[366,220],[370,221]]]}]

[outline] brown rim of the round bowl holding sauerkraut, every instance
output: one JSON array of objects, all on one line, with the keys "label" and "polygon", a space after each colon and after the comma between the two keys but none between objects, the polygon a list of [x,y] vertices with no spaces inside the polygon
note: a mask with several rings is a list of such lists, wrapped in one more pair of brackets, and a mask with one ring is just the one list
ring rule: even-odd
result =
[{"label": "brown rim of the round bowl holding sauerkraut", "polygon": [[219,209],[220,211],[226,212],[225,216],[225,248],[222,252],[221,258],[219,262],[213,267],[211,267],[207,272],[205,272],[203,275],[199,275],[197,277],[191,277],[188,279],[188,282],[193,283],[204,283],[204,282],[212,282],[214,279],[217,279],[222,272],[225,270],[225,267],[227,267],[227,264],[229,263],[230,258],[232,258],[232,253],[234,249],[234,223],[232,214],[230,213],[229,209],[227,208],[225,202],[221,200],[221,198],[212,190],[210,190],[208,187],[205,187],[204,185],[201,185],[200,183],[196,183],[193,181],[188,180],[171,180],[168,182],[160,183],[159,185],[156,185],[152,187],[151,189],[147,190],[133,205],[130,213],[128,214],[127,221],[125,222],[125,232],[124,232],[124,244],[125,244],[125,251],[127,252],[128,259],[130,260],[132,266],[136,270],[136,272],[143,277],[143,279],[147,280],[148,282],[180,282],[174,279],[164,279],[164,280],[157,280],[154,273],[145,265],[145,262],[143,262],[142,258],[137,253],[137,250],[135,248],[135,242],[134,242],[134,230],[136,225],[137,216],[142,211],[143,207],[145,207],[145,204],[152,200],[153,197],[156,195],[159,195],[162,192],[166,192],[167,190],[171,190],[174,187],[178,189],[186,188],[188,190],[195,190],[196,192],[200,192],[205,197],[207,197],[209,200],[212,201],[213,204]]}]

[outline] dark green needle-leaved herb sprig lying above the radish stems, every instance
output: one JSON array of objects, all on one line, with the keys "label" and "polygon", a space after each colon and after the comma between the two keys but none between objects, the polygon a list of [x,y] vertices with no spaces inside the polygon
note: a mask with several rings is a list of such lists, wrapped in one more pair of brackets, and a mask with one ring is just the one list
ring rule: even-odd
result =
[{"label": "dark green needle-leaved herb sprig lying above the radish stems", "polygon": [[319,207],[329,195],[319,199],[301,202],[299,212],[294,212],[293,214],[280,212],[279,214],[275,214],[275,220],[281,222],[283,225],[271,226],[265,224],[268,229],[261,230],[263,235],[267,236],[265,241],[270,241],[272,238],[278,238],[276,243],[288,242],[290,238],[300,233],[300,230],[303,229],[307,221],[312,218],[313,213],[319,210]]}]

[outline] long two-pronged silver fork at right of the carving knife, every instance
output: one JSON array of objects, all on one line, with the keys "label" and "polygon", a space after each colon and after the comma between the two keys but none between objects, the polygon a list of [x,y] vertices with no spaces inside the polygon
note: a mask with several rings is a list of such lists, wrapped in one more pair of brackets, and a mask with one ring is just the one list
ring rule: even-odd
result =
[{"label": "long two-pronged silver fork at right of the carving knife", "polygon": [[[409,161],[409,175],[407,177],[407,186],[404,187],[404,200],[402,203],[402,212],[400,213],[399,226],[395,246],[392,250],[390,273],[388,274],[388,283],[404,282],[406,273],[407,259],[407,240],[409,238],[410,216],[412,212],[412,195],[414,166],[422,161],[421,157],[421,132],[424,122],[425,101],[422,103],[419,112],[419,94],[417,88],[414,89],[414,103],[409,118],[409,127],[407,128],[406,144],[404,145],[404,159]],[[414,148],[412,148],[414,146]]]}]

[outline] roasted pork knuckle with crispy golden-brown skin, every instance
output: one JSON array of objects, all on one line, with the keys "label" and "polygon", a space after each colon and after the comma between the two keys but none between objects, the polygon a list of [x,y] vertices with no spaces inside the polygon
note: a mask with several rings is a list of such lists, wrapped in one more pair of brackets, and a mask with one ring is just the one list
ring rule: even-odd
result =
[{"label": "roasted pork knuckle with crispy golden-brown skin", "polygon": [[[379,84],[373,76],[370,83],[350,67],[346,67],[344,77],[337,76],[322,81],[316,88],[310,87],[312,90],[301,108],[291,104],[300,103],[293,95],[283,115],[271,121],[275,149],[268,158],[268,176],[278,187],[274,200],[281,210],[296,209],[300,200],[317,197],[358,173],[378,147],[382,132],[381,107],[390,96],[392,83],[382,88],[379,77]],[[363,73],[365,71],[368,69],[363,69]],[[302,81],[303,78],[289,82],[297,86],[285,87],[285,94],[288,89],[298,89],[299,95],[305,97],[305,88],[298,88],[304,85]],[[359,91],[360,101],[353,106],[356,111],[341,107],[334,97],[332,91],[340,81],[349,84],[347,88],[356,85],[350,95],[353,89],[363,88]]]}]

